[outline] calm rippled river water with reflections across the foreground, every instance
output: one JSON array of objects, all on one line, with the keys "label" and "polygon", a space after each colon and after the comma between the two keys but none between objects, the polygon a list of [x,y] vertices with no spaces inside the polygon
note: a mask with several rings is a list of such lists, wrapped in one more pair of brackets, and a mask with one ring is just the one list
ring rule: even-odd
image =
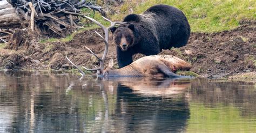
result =
[{"label": "calm rippled river water with reflections across the foreground", "polygon": [[0,132],[255,132],[256,85],[0,71]]}]

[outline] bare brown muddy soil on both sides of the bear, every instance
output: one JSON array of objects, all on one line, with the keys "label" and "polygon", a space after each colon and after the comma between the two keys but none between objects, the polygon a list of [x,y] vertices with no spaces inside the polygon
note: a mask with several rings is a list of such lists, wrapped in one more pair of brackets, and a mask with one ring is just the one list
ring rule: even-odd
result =
[{"label": "bare brown muddy soil on both sides of the bear", "polygon": [[[191,71],[204,77],[226,77],[255,72],[256,24],[255,21],[241,23],[241,26],[231,31],[192,33],[186,46],[163,50],[160,54],[174,55],[191,62]],[[95,31],[103,34],[101,29],[93,29],[75,35],[69,42],[39,43],[33,35],[26,35],[26,41],[21,41],[23,44],[12,46],[10,43],[9,49],[0,50],[0,67],[64,70],[72,68],[65,59],[65,56],[68,56],[77,65],[93,68],[98,65],[98,61],[85,46],[99,56],[102,56],[104,51],[104,42]],[[134,58],[142,56],[136,55]],[[114,59],[117,68],[116,46],[112,35],[105,65],[110,58]]]}]

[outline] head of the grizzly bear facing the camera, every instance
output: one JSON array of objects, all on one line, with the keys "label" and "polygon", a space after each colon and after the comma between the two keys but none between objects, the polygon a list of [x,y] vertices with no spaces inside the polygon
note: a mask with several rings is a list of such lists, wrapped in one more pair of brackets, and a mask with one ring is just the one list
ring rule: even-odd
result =
[{"label": "head of the grizzly bear facing the camera", "polygon": [[134,25],[123,24],[110,29],[113,33],[113,40],[122,51],[126,51],[134,45]]}]

